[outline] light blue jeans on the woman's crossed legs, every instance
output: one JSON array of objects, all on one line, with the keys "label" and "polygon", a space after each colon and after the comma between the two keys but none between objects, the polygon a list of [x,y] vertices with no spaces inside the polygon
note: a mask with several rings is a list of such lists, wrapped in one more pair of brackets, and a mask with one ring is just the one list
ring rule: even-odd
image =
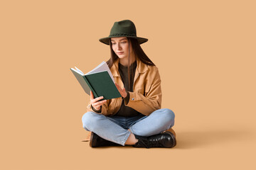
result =
[{"label": "light blue jeans on the woman's crossed legs", "polygon": [[161,108],[150,115],[141,114],[134,117],[105,116],[87,112],[82,115],[82,127],[105,140],[124,146],[131,132],[139,136],[156,135],[173,127],[174,118],[174,112],[168,108]]}]

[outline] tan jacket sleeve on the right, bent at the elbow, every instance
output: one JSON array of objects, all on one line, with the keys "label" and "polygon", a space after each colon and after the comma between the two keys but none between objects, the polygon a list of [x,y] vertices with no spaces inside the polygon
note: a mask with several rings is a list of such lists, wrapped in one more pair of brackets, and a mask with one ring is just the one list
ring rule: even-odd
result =
[{"label": "tan jacket sleeve on the right, bent at the elbow", "polygon": [[149,91],[145,93],[145,96],[137,91],[129,91],[129,102],[125,102],[125,106],[134,108],[134,110],[142,113],[143,115],[149,115],[153,111],[161,108],[161,79],[159,70],[156,69],[154,79],[151,82]]}]

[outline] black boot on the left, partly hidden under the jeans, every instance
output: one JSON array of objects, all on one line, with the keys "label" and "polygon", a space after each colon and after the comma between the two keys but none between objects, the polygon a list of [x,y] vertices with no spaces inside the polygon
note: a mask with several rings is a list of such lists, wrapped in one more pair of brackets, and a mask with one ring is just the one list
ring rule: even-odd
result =
[{"label": "black boot on the left, partly hidden under the jeans", "polygon": [[122,146],[122,145],[111,142],[109,140],[105,140],[94,132],[91,133],[90,147],[107,147],[107,146]]}]

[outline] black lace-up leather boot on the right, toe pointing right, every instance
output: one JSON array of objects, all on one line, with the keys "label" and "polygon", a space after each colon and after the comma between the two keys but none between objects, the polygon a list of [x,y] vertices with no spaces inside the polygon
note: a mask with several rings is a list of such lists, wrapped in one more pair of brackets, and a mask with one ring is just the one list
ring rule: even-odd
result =
[{"label": "black lace-up leather boot on the right, toe pointing right", "polygon": [[163,132],[157,135],[149,137],[142,137],[135,135],[135,138],[139,140],[133,147],[175,147],[176,137],[171,132]]}]

